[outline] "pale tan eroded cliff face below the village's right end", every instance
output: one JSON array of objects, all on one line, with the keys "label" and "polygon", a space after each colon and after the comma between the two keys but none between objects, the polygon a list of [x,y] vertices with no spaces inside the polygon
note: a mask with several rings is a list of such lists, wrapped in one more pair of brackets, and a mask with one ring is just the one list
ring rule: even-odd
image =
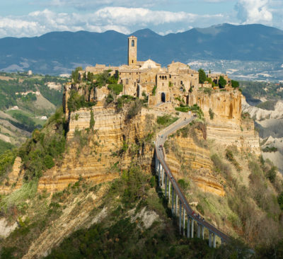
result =
[{"label": "pale tan eroded cliff face below the village's right end", "polygon": [[[260,155],[258,132],[253,120],[241,117],[242,94],[240,91],[221,91],[209,94],[194,93],[190,105],[197,103],[207,122],[207,139],[214,139],[225,146],[237,146],[241,151]],[[214,114],[212,119],[211,114]]]}]

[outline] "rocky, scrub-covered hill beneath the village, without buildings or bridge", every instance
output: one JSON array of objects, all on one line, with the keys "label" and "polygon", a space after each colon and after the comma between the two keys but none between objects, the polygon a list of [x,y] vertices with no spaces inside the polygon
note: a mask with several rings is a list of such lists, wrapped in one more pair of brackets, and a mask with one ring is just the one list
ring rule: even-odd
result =
[{"label": "rocky, scrub-covered hill beneath the village, without buildings or bridge", "polygon": [[[171,105],[149,107],[103,75],[66,84],[63,108],[1,156],[1,258],[282,256],[282,175],[260,156],[241,92],[196,88],[181,106],[172,87]],[[154,171],[156,136],[189,110],[197,118],[168,138],[166,162],[195,212],[231,237],[216,249],[176,232]]]}]

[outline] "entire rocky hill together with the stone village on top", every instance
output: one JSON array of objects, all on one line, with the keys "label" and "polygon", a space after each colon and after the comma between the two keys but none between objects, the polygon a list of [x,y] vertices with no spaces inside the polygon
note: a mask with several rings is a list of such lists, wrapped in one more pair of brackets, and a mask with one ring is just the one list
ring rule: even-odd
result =
[{"label": "entire rocky hill together with the stone village on top", "polygon": [[[252,247],[266,234],[270,241],[281,236],[282,212],[275,197],[282,192],[282,176],[270,161],[260,159],[258,132],[250,115],[242,113],[245,98],[237,82],[180,62],[166,68],[151,59],[139,62],[137,38],[129,37],[127,45],[125,65],[75,69],[64,85],[62,107],[14,154],[0,194],[7,202],[5,213],[14,217],[16,234],[8,236],[13,229],[7,223],[4,246],[17,247],[15,253],[23,258],[40,258],[64,245],[67,236],[76,236],[77,229],[85,233],[101,224],[106,229],[94,231],[103,234],[105,243],[99,246],[103,251],[109,246],[109,258],[124,248],[132,258],[141,243],[141,254],[152,244],[147,257],[154,258],[164,234],[177,233],[168,209],[175,205],[180,213],[183,207],[185,219],[180,205],[185,199],[186,208],[205,219],[200,223],[207,227],[209,246],[220,246],[223,234],[243,238]],[[164,177],[162,163],[170,168],[174,185],[167,185],[171,176]],[[178,210],[177,190],[183,193],[178,191]],[[13,200],[18,209],[11,207]],[[184,234],[190,224],[180,224],[180,214]],[[192,226],[187,233],[200,237],[201,224],[187,222]],[[222,234],[212,238],[212,226]],[[161,237],[152,243],[156,233]],[[89,236],[97,246],[101,238]],[[184,246],[185,238],[175,239],[180,240],[180,255],[184,247],[187,254],[192,251]],[[166,242],[164,248],[173,246],[171,239]]]}]

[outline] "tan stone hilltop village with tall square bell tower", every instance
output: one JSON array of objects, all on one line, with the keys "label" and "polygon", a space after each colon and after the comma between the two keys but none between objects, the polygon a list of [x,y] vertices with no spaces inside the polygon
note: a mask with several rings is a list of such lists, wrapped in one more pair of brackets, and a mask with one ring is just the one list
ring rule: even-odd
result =
[{"label": "tan stone hilltop village with tall square bell tower", "polygon": [[[128,64],[120,67],[107,67],[104,64],[96,64],[96,67],[86,67],[84,71],[79,71],[79,79],[88,75],[101,74],[109,71],[110,75],[115,73],[119,78],[117,84],[122,85],[120,95],[128,95],[136,98],[147,98],[149,107],[162,103],[172,103],[178,105],[178,99],[184,100],[184,104],[190,105],[190,93],[200,91],[200,89],[219,89],[219,79],[224,79],[226,90],[231,88],[231,79],[226,74],[207,74],[209,81],[200,84],[199,72],[187,64],[172,62],[166,67],[154,62],[151,59],[137,61],[137,38],[128,38]],[[93,100],[101,101],[107,95],[105,89],[96,88]],[[176,101],[177,100],[177,101]]]}]

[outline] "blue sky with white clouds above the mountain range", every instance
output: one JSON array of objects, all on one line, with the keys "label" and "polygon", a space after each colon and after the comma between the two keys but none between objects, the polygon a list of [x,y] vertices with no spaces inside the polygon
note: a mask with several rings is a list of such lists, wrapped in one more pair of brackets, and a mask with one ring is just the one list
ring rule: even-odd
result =
[{"label": "blue sky with white clouds above the mountain range", "polygon": [[51,31],[160,35],[221,23],[261,23],[283,30],[283,0],[0,0],[0,38]]}]

